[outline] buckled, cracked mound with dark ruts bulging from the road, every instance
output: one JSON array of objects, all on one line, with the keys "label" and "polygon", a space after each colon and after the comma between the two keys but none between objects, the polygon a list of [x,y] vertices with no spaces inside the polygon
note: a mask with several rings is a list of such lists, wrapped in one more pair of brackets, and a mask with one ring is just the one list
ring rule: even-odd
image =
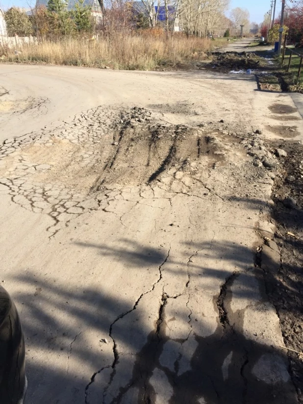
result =
[{"label": "buckled, cracked mound with dark ruts bulging from the road", "polygon": [[150,189],[158,182],[167,191],[185,192],[208,168],[245,156],[240,139],[222,123],[171,125],[159,123],[158,115],[139,107],[114,113],[99,107],[72,124],[5,141],[0,192],[49,215],[54,225],[48,230],[55,234],[75,215],[106,209],[110,190],[117,197],[119,189]]}]

